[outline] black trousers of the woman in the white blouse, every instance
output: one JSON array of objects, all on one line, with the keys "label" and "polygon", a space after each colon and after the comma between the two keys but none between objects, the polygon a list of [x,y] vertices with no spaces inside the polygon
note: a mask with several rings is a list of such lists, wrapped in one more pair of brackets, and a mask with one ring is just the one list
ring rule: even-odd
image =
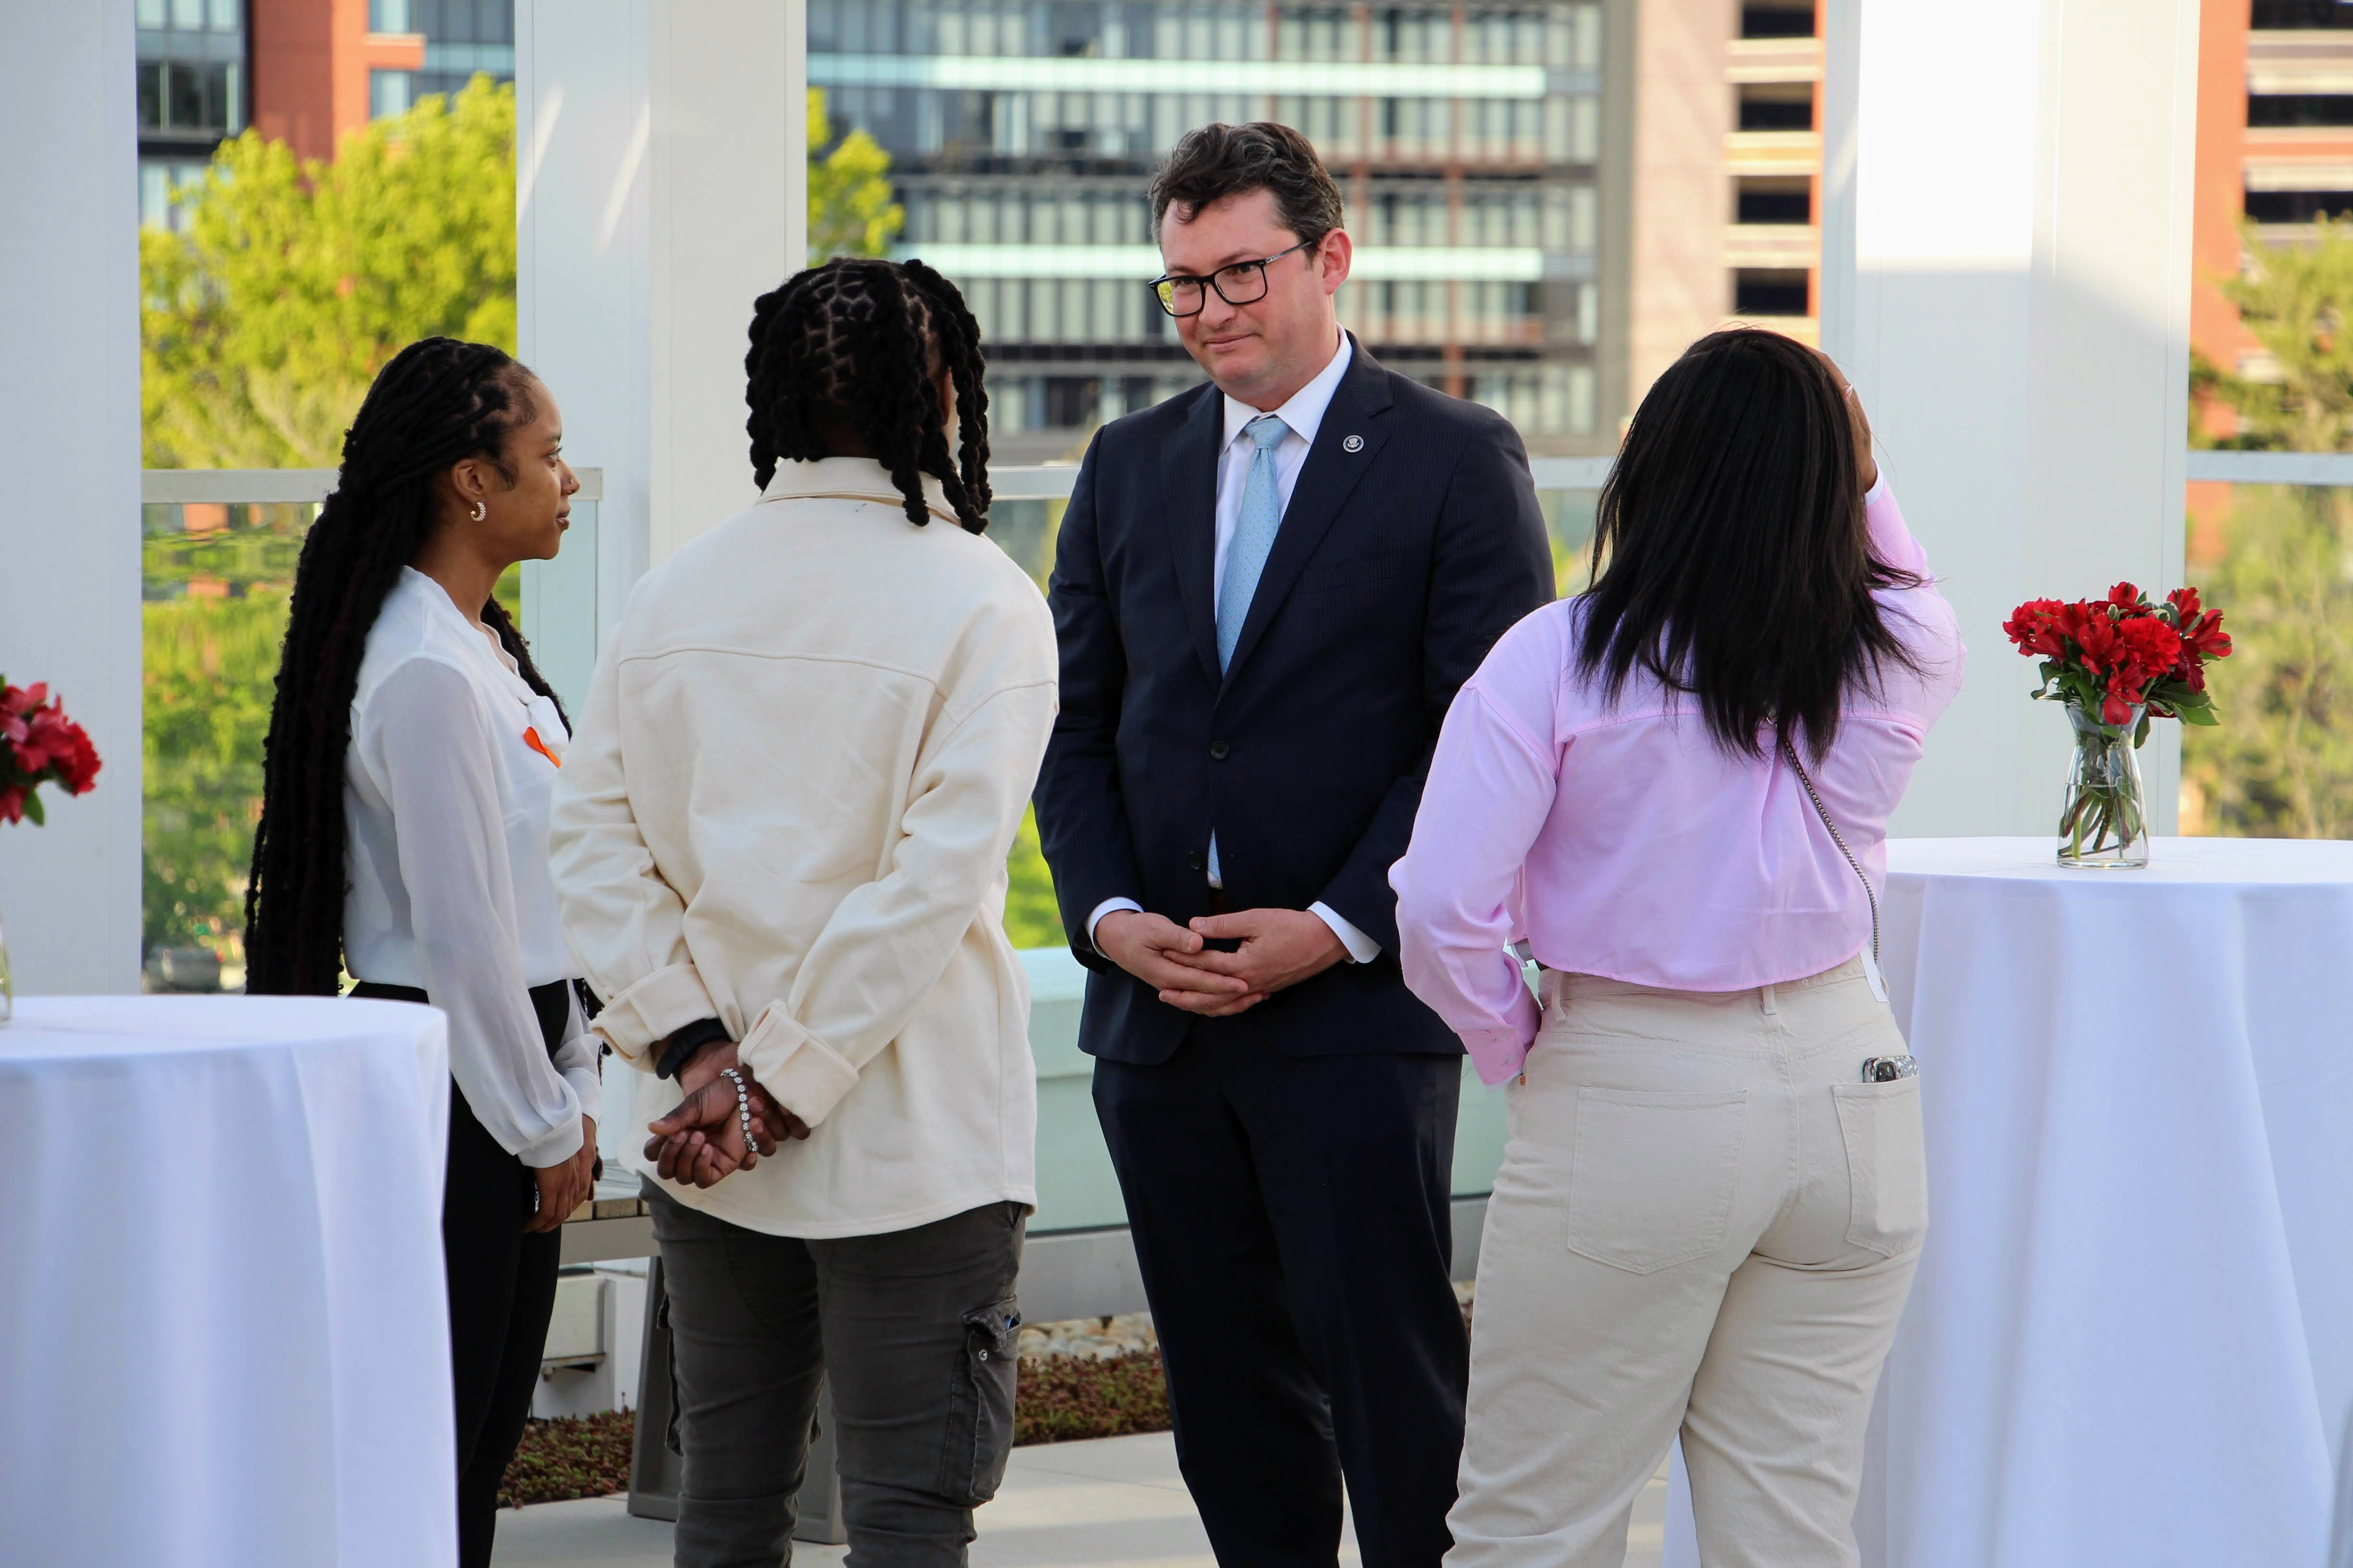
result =
[{"label": "black trousers of the woman in the white blouse", "polygon": [[[362,980],[353,997],[426,1001],[409,985]],[[572,990],[532,987],[548,1053],[562,1044]],[[499,1483],[522,1441],[539,1387],[539,1356],[555,1312],[555,1232],[525,1234],[539,1178],[482,1131],[449,1084],[449,1166],[442,1185],[442,1262],[449,1274],[449,1382],[456,1396],[456,1561],[489,1568]]]}]

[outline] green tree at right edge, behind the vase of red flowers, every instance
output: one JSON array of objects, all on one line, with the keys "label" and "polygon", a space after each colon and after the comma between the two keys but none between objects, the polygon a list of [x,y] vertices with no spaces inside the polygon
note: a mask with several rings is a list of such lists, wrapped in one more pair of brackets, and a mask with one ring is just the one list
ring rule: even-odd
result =
[{"label": "green tree at right edge, behind the vase of red flowers", "polygon": [[[2191,388],[2235,409],[2228,444],[2353,449],[2353,223],[2308,244],[2264,244],[2217,280],[2271,371],[2198,357]],[[2191,421],[2191,442],[2212,444]],[[2233,656],[2212,670],[2221,726],[2186,729],[2181,780],[2214,832],[2353,835],[2353,491],[2238,487],[2224,557],[2205,583]]]}]

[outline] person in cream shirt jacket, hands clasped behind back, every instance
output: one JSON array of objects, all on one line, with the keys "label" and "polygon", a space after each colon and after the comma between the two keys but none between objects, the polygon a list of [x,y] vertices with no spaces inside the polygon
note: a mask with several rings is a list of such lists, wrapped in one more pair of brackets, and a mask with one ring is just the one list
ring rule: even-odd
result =
[{"label": "person in cream shirt jacket, hands clasped behind back", "polygon": [[1005,853],[1054,628],[979,536],[988,402],[946,277],[800,273],[760,299],[746,371],[760,501],[638,583],[551,839],[595,1027],[645,1074],[640,1114],[668,1112],[635,1168],[675,1552],[784,1561],[824,1378],[852,1559],[962,1563],[1012,1441],[1035,1204]]}]

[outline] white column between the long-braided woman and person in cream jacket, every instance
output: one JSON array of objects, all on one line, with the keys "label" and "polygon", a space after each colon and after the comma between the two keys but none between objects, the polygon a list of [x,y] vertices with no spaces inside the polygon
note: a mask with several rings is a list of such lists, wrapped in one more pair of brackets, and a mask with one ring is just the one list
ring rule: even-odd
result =
[{"label": "white column between the long-braided woman and person in cream jacket", "polygon": [[515,5],[522,357],[605,470],[600,628],[755,498],[744,331],[807,244],[805,92],[802,0]]}]

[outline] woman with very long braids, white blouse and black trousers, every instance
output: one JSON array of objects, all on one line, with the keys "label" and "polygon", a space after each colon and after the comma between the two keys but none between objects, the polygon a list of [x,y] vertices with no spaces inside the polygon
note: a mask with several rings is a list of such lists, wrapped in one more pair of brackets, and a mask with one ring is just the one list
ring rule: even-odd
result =
[{"label": "woman with very long braids, white blouse and black trousers", "polygon": [[294,604],[245,896],[249,992],[449,1016],[442,1248],[459,1561],[487,1568],[588,1197],[598,1044],[574,1001],[548,799],[567,729],[492,597],[555,555],[579,480],[555,400],[496,348],[426,339],[367,390]]}]

